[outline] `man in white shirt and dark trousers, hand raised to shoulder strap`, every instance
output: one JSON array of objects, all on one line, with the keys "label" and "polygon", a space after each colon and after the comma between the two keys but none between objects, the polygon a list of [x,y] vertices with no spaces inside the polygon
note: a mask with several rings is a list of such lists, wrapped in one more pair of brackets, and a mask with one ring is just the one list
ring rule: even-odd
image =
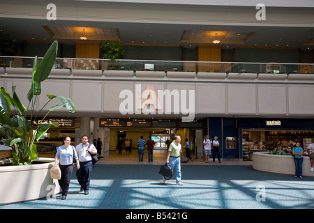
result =
[{"label": "man in white shirt and dark trousers, hand raised to shoulder strap", "polygon": [[91,162],[91,154],[97,154],[94,144],[89,144],[89,137],[82,136],[82,143],[75,147],[75,151],[80,160],[80,169],[76,171],[77,181],[80,183],[80,191],[84,190],[84,194],[89,194],[89,184],[91,182],[91,170],[93,162]]}]

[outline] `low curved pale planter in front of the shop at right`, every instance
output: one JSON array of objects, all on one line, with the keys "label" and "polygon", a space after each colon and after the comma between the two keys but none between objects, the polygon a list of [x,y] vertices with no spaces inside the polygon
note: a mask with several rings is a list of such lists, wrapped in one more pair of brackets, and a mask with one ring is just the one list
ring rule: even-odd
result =
[{"label": "low curved pale planter in front of the shop at right", "polygon": [[[291,155],[271,155],[267,152],[253,153],[253,169],[276,174],[295,174],[294,160]],[[314,176],[310,171],[309,157],[303,157],[302,176]]]}]

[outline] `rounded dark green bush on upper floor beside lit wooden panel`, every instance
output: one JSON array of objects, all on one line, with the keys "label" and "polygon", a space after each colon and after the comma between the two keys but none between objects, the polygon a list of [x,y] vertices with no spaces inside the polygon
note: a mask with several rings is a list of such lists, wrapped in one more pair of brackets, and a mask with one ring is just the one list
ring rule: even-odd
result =
[{"label": "rounded dark green bush on upper floor beside lit wooden panel", "polygon": [[101,58],[117,61],[123,59],[124,47],[121,42],[108,42],[100,45],[99,52]]}]

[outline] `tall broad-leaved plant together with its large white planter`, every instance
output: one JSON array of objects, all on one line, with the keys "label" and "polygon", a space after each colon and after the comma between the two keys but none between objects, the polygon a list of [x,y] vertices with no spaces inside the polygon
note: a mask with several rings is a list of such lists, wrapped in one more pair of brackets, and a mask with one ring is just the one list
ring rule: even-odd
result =
[{"label": "tall broad-leaved plant together with its large white planter", "polygon": [[[57,47],[58,43],[54,41],[40,63],[38,63],[37,56],[33,61],[31,89],[29,93],[25,93],[29,100],[27,108],[18,98],[15,92],[16,86],[12,87],[12,95],[3,87],[0,89],[0,132],[5,136],[4,143],[12,148],[13,155],[13,158],[10,159],[13,161],[13,165],[0,167],[0,181],[3,182],[0,183],[0,205],[42,197],[48,198],[61,191],[57,180],[50,177],[50,169],[54,165],[54,159],[37,157],[35,141],[38,141],[49,130],[50,126],[59,125],[58,123],[45,122],[47,114],[60,107],[66,107],[68,112],[75,112],[72,100],[63,96],[48,94],[47,103],[58,98],[61,100],[61,105],[50,107],[41,123],[34,124],[32,121],[29,123],[29,119],[36,118],[36,115],[42,112],[47,105],[46,103],[38,114],[34,113],[36,99],[41,93],[40,83],[50,75],[57,56]],[[11,106],[15,109],[13,114],[11,114]],[[27,115],[30,116],[29,119]],[[34,134],[33,127],[36,128]],[[34,160],[37,161],[36,164],[32,164]],[[8,187],[14,193],[8,193]]]}]

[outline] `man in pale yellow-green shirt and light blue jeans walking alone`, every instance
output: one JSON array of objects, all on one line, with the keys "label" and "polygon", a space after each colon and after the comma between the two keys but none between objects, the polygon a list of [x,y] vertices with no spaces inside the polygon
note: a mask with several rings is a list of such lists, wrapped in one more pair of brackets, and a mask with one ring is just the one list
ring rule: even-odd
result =
[{"label": "man in pale yellow-green shirt and light blue jeans walking alone", "polygon": [[[170,144],[168,153],[167,153],[167,164],[170,165],[172,169],[176,169],[176,184],[183,185],[181,183],[181,137],[177,135],[174,137],[174,141]],[[163,183],[166,183],[165,177],[163,177]]]}]

